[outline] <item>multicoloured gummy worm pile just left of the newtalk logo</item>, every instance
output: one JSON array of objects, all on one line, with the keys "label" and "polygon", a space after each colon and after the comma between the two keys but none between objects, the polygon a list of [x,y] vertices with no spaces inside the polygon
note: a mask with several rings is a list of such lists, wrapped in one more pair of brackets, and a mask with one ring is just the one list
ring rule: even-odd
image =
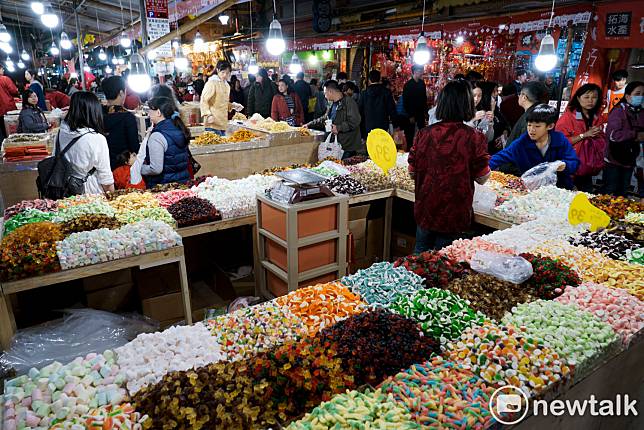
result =
[{"label": "multicoloured gummy worm pile just left of the newtalk logo", "polygon": [[423,428],[486,429],[492,386],[463,366],[435,357],[387,379],[390,394]]}]

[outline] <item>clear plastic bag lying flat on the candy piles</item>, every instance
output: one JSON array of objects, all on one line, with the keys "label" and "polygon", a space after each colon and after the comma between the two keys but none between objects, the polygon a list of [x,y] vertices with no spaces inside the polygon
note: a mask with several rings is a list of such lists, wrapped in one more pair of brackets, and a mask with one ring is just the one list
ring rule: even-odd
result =
[{"label": "clear plastic bag lying flat on the candy piles", "polygon": [[477,272],[514,284],[527,281],[533,273],[532,264],[525,258],[490,251],[476,251],[470,266]]}]

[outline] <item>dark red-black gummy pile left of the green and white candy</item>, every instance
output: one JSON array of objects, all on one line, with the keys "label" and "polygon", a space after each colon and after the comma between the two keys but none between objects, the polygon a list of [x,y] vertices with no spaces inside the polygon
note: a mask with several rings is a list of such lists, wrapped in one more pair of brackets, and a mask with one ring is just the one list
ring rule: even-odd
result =
[{"label": "dark red-black gummy pile left of the green and white candy", "polygon": [[375,309],[353,315],[319,333],[342,358],[357,385],[379,384],[413,363],[440,353],[438,342],[423,336],[411,319]]}]

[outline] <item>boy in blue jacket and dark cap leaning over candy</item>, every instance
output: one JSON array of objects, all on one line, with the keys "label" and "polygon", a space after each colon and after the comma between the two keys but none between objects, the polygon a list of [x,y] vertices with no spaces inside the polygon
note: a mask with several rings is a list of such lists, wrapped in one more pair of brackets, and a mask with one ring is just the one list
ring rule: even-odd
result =
[{"label": "boy in blue jacket and dark cap leaning over candy", "polygon": [[557,186],[572,189],[572,175],[579,167],[579,158],[570,141],[554,130],[557,117],[554,107],[545,103],[538,105],[527,116],[528,131],[494,154],[490,159],[490,169],[499,170],[510,164],[523,175],[538,164],[563,161],[566,165],[557,173]]}]

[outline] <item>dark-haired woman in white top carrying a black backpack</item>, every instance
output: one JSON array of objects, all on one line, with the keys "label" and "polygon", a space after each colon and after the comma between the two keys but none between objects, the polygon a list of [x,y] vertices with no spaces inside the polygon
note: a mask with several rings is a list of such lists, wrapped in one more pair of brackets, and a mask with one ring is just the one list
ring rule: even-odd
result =
[{"label": "dark-haired woman in white top carrying a black backpack", "polygon": [[[69,163],[72,180],[84,181],[84,189],[76,194],[114,191],[110,151],[102,132],[103,109],[98,97],[87,91],[74,93],[56,138],[56,153],[60,151]],[[70,181],[70,178],[65,179]]]}]

